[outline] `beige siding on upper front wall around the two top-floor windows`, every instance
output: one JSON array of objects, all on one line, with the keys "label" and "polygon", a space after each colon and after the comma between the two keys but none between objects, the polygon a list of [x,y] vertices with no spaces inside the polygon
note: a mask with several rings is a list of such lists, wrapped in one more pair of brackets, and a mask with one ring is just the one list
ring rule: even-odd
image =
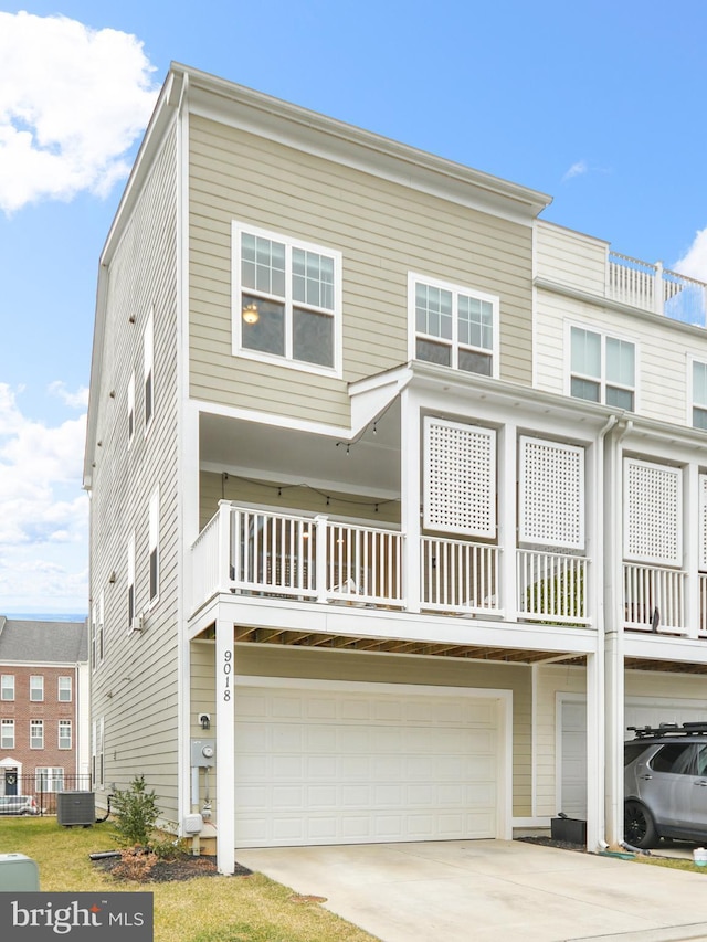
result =
[{"label": "beige siding on upper front wall around the two top-floor windows", "polygon": [[[231,354],[231,223],[338,250],[344,379]],[[530,382],[531,229],[192,116],[192,396],[346,424],[347,383],[408,360],[408,272],[500,296],[500,369]]]}]

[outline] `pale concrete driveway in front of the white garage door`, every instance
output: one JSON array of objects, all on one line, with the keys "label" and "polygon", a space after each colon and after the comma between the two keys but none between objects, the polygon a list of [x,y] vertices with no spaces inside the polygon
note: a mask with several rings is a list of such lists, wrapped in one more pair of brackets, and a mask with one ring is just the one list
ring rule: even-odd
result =
[{"label": "pale concrete driveway in front of the white garage door", "polygon": [[323,906],[383,942],[707,940],[707,874],[518,840],[267,848],[236,859],[326,897]]}]

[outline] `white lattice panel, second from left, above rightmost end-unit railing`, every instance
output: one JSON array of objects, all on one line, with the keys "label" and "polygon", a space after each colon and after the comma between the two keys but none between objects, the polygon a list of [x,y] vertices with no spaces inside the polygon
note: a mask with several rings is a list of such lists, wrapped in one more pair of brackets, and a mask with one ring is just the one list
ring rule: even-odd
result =
[{"label": "white lattice panel, second from left, above rightmost end-unit railing", "polygon": [[520,436],[521,542],[584,549],[584,449]]}]

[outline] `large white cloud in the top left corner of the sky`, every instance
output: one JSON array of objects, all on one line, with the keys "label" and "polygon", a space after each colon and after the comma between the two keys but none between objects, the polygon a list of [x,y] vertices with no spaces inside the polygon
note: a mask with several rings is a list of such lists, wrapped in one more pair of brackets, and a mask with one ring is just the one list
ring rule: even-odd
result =
[{"label": "large white cloud in the top left corner of the sky", "polygon": [[107,194],[155,105],[152,73],[128,33],[0,12],[0,209]]}]

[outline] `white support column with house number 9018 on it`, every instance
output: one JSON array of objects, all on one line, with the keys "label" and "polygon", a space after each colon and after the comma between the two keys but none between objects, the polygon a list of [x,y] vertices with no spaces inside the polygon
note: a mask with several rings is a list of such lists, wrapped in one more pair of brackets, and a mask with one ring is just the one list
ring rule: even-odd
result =
[{"label": "white support column with house number 9018 on it", "polygon": [[235,709],[233,623],[217,621],[217,867],[235,869]]}]

